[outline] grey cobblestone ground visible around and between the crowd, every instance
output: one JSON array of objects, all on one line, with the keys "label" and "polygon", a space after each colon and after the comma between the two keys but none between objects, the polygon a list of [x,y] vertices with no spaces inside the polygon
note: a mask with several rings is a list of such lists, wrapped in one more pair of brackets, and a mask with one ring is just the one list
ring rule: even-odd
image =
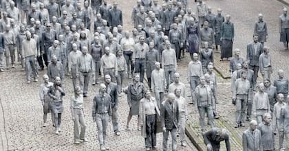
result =
[{"label": "grey cobblestone ground visible around and between the crowd", "polygon": [[[109,1],[111,3],[112,1]],[[131,8],[135,5],[135,1],[119,1],[119,7],[123,11],[123,18],[125,23],[125,30],[131,31]],[[217,8],[223,9],[223,14],[231,14],[232,21],[235,24],[235,43],[234,48],[241,49],[241,56],[246,56],[246,45],[252,41],[253,25],[257,21],[257,14],[259,12],[264,14],[264,21],[268,24],[268,43],[265,45],[271,48],[270,54],[272,56],[272,65],[277,69],[284,69],[286,75],[289,75],[288,52],[283,50],[283,44],[279,43],[278,33],[278,16],[281,14],[283,4],[279,1],[272,0],[223,0],[223,1],[205,1],[216,12]],[[188,8],[195,10],[195,3],[189,1]],[[129,8],[129,9],[125,9]],[[219,54],[215,54],[215,65],[220,67],[222,72],[228,71],[228,62],[219,62],[217,59]],[[178,72],[182,73],[182,82],[186,84],[188,102],[189,84],[186,82],[186,67],[189,62],[189,56],[180,62]],[[40,77],[44,72],[40,72]],[[227,74],[227,73],[226,73]],[[273,73],[271,80],[276,78],[276,72]],[[288,76],[287,76],[288,77]],[[69,78],[65,79],[65,91],[67,96],[64,97],[65,112],[63,113],[62,131],[60,135],[54,135],[54,128],[48,126],[41,127],[42,124],[42,107],[39,101],[38,91],[41,84],[39,82],[25,83],[25,73],[21,71],[20,66],[17,69],[12,69],[0,74],[0,136],[1,146],[3,150],[98,150],[98,140],[96,133],[96,124],[92,122],[91,106],[92,98],[98,91],[98,86],[89,85],[89,97],[85,99],[85,120],[87,124],[87,139],[88,143],[80,146],[73,144],[73,123],[69,111],[69,97],[72,96],[72,84]],[[229,128],[231,132],[231,143],[233,143],[232,150],[240,149],[240,139],[242,132],[246,128],[231,128],[235,122],[235,106],[231,104],[231,85],[230,80],[224,80],[218,77],[218,99],[217,111],[222,117],[216,120],[217,126]],[[259,81],[261,79],[259,78]],[[128,106],[126,95],[122,95],[120,100],[120,131],[122,135],[115,137],[112,132],[111,124],[108,130],[107,145],[111,150],[144,150],[144,140],[140,136],[140,132],[136,130],[136,117],[133,117],[131,127],[133,130],[126,132],[124,130],[127,121]],[[190,119],[187,124],[193,128],[200,137],[200,128],[198,121],[198,114],[193,111],[193,106],[189,104]],[[4,122],[5,121],[5,122]],[[51,123],[51,119],[49,118]],[[248,123],[246,123],[248,126]],[[231,129],[230,129],[231,128]],[[178,150],[195,150],[193,145],[180,148],[178,143]],[[162,148],[162,135],[158,134],[158,148]],[[224,147],[224,144],[222,144]],[[191,148],[190,148],[191,147]],[[0,149],[1,150],[1,149]],[[224,150],[224,148],[222,148]]]}]

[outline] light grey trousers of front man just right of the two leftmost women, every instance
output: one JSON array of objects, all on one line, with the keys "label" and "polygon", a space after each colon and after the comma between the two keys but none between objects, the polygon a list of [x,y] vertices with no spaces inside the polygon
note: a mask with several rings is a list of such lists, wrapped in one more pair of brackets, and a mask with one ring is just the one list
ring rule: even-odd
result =
[{"label": "light grey trousers of front man just right of the two leftmost women", "polygon": [[[79,134],[79,124],[81,125],[81,133]],[[85,139],[85,119],[83,110],[74,108],[74,141]]]}]

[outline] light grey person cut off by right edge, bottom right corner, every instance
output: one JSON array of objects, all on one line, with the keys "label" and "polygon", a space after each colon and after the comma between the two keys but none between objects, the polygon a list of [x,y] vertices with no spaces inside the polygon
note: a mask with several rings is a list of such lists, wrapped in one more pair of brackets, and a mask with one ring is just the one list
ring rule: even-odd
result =
[{"label": "light grey person cut off by right edge, bottom right corner", "polygon": [[[286,99],[289,99],[289,97],[287,96]],[[286,106],[281,108],[280,131],[283,132],[283,135],[285,136],[286,150],[289,150],[289,101]]]}]

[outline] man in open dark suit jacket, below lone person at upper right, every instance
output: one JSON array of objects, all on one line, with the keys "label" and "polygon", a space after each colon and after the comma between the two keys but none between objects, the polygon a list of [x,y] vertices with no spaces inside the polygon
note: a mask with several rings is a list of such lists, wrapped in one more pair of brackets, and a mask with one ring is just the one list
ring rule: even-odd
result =
[{"label": "man in open dark suit jacket, below lone person at upper right", "polygon": [[258,35],[253,35],[254,42],[247,45],[247,60],[249,62],[249,69],[254,71],[253,86],[256,84],[259,71],[259,57],[263,53],[263,45],[258,42]]}]

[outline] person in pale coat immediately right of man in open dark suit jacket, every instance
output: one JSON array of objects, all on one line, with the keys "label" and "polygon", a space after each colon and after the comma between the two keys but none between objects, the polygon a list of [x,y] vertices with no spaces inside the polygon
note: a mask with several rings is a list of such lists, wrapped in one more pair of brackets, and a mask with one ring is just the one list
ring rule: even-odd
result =
[{"label": "person in pale coat immediately right of man in open dark suit jacket", "polygon": [[263,54],[259,56],[259,69],[261,72],[261,75],[263,76],[263,80],[271,78],[272,71],[272,63],[271,58],[269,55],[269,47],[263,48]]}]

